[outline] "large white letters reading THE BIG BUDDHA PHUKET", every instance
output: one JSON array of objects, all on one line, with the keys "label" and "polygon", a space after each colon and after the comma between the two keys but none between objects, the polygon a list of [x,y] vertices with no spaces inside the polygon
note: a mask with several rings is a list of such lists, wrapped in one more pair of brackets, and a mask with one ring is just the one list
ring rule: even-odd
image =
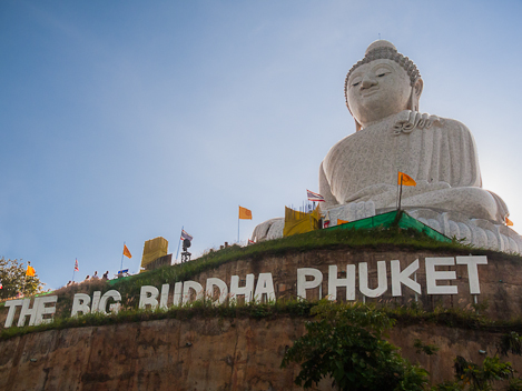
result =
[{"label": "large white letters reading THE BIG BUDDHA PHUKET", "polygon": [[[487,258],[484,255],[470,257],[444,257],[444,258],[426,258],[424,260],[425,273],[425,292],[426,294],[457,294],[459,288],[452,284],[456,280],[456,265],[467,267],[467,278],[470,285],[470,294],[480,294],[479,265],[487,264]],[[441,270],[444,268],[445,270]],[[401,262],[392,260],[390,262],[376,262],[376,287],[370,287],[368,263],[360,262],[356,264],[346,264],[345,270],[341,270],[344,274],[338,277],[338,268],[335,264],[328,265],[327,273],[327,298],[337,300],[337,289],[344,288],[346,297],[343,300],[356,300],[356,290],[358,281],[358,291],[367,298],[378,298],[388,291],[388,272],[392,297],[403,295],[403,285],[422,294],[423,288],[417,282],[417,273],[421,263],[417,260],[410,263],[401,270]],[[357,275],[358,274],[358,275]],[[413,277],[413,278],[412,278]],[[307,291],[318,288],[319,299],[322,295],[323,272],[315,268],[299,268],[296,275],[296,293],[301,299],[306,300]],[[421,279],[422,281],[422,279]],[[373,283],[375,285],[375,283]],[[245,280],[240,280],[239,275],[230,277],[230,284],[218,278],[208,278],[205,287],[197,281],[183,281],[174,284],[174,290],[169,283],[164,283],[161,290],[151,285],[142,285],[139,293],[139,309],[167,309],[167,303],[173,305],[189,304],[195,300],[206,300],[214,305],[219,305],[226,300],[236,301],[239,297],[244,298],[246,303],[255,301],[257,303],[275,301],[276,293],[274,289],[274,280],[272,273],[246,274]],[[169,300],[171,298],[171,301]],[[26,325],[29,318],[29,325],[37,325],[43,322],[50,322],[56,312],[57,295],[43,295],[35,298],[32,307],[31,299],[17,299],[6,302],[9,309],[4,328],[10,328],[18,312],[18,327]],[[96,291],[90,298],[86,293],[76,293],[72,299],[71,317],[87,314],[89,312],[100,312],[108,314],[109,312],[118,312],[121,305],[121,294],[116,290],[109,290],[101,294]],[[108,311],[107,311],[108,307]]]}]

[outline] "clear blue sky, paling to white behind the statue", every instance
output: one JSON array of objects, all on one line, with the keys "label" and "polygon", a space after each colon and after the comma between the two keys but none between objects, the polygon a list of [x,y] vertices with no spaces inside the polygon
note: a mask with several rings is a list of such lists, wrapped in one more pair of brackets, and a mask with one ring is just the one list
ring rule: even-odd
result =
[{"label": "clear blue sky, paling to white behind the statue", "polygon": [[124,242],[131,273],[149,239],[176,258],[181,228],[193,258],[245,243],[318,191],[355,131],[344,78],[380,38],[418,67],[421,111],[470,128],[522,232],[521,17],[501,0],[2,0],[0,257],[57,289],[115,274]]}]

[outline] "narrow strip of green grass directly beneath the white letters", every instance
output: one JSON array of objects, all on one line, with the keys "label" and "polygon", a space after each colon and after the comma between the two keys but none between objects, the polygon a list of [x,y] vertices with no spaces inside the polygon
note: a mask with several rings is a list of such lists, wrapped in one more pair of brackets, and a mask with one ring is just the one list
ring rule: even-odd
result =
[{"label": "narrow strip of green grass directly beneath the white letters", "polygon": [[[323,303],[326,299],[323,299]],[[284,317],[299,318],[304,321],[311,320],[313,308],[319,302],[304,300],[279,300],[269,303],[224,304],[211,305],[210,303],[196,301],[185,307],[171,307],[167,310],[125,310],[108,315],[101,313],[89,313],[73,318],[55,318],[50,323],[32,327],[12,327],[0,331],[0,340],[21,337],[27,333],[42,332],[47,330],[62,330],[83,327],[100,327],[119,323],[132,323],[142,321],[155,321],[162,319],[177,319],[187,321],[190,319],[220,318],[220,319],[254,319],[275,320]],[[332,302],[331,305],[342,303]],[[371,304],[373,305],[373,304]],[[479,314],[474,310],[436,308],[434,311],[424,311],[415,303],[411,305],[386,307],[380,305],[385,313],[396,321],[396,325],[407,327],[413,324],[436,324],[442,327],[482,330],[486,332],[522,332],[522,319],[510,321],[494,321]]]}]

